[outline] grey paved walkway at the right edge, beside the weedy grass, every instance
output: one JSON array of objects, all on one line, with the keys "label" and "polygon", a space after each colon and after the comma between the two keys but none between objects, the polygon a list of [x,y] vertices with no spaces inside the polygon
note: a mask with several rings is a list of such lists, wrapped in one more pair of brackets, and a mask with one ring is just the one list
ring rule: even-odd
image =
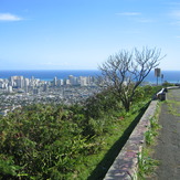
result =
[{"label": "grey paved walkway at the right edge, beside the weedy grass", "polygon": [[180,88],[167,93],[160,114],[162,126],[153,158],[160,161],[152,180],[180,180]]}]

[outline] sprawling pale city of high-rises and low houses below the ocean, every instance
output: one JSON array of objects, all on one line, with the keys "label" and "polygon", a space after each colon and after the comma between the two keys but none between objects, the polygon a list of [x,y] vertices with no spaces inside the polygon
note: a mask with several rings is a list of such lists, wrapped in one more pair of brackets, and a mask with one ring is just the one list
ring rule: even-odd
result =
[{"label": "sprawling pale city of high-rises and low houses below the ocean", "polygon": [[74,104],[81,103],[100,91],[94,76],[75,77],[70,75],[65,80],[54,77],[53,81],[11,76],[0,78],[0,114],[7,115],[18,107],[31,104]]}]

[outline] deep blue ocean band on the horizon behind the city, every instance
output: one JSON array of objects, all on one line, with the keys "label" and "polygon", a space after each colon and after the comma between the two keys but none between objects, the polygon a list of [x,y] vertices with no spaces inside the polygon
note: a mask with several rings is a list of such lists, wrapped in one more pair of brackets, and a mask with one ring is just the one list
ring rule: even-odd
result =
[{"label": "deep blue ocean band on the horizon behind the city", "polygon": [[[180,71],[161,71],[163,78],[158,78],[159,84],[167,81],[169,83],[179,83],[180,81]],[[40,78],[41,81],[52,81],[55,76],[57,78],[68,78],[68,75],[73,76],[96,76],[100,75],[100,72],[97,70],[35,70],[35,71],[0,71],[0,78],[9,78],[10,76],[24,76],[31,78]],[[155,77],[155,72],[151,71],[146,77],[145,82],[157,83],[157,77]]]}]

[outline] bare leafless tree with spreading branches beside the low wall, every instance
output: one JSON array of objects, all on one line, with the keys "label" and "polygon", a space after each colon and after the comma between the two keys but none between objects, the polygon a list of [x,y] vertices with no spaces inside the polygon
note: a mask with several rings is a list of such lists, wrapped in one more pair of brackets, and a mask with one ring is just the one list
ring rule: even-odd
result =
[{"label": "bare leafless tree with spreading branches beside the low wall", "polygon": [[117,95],[126,112],[130,108],[137,87],[163,57],[156,47],[134,49],[130,52],[121,50],[99,66],[104,84]]}]

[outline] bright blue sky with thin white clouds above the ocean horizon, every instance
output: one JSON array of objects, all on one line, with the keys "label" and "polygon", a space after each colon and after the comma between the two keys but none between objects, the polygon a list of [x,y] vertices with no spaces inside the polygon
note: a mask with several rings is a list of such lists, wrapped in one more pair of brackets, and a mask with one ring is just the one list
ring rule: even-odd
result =
[{"label": "bright blue sky with thin white clouds above the ocean horizon", "polygon": [[180,70],[179,0],[0,0],[0,70],[97,70],[144,46]]}]

